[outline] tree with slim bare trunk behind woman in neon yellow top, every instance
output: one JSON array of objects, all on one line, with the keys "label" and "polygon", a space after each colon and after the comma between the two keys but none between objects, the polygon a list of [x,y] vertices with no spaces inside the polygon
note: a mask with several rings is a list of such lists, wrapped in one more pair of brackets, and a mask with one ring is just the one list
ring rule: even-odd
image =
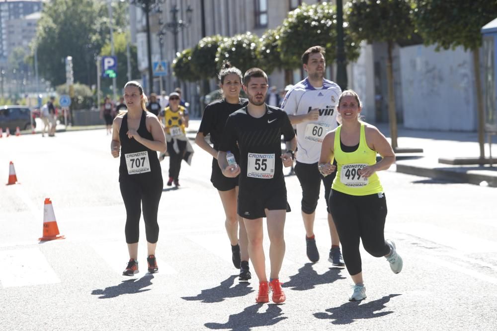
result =
[{"label": "tree with slim bare trunk behind woman in neon yellow top", "polygon": [[392,50],[399,40],[414,35],[410,0],[354,0],[346,8],[350,28],[360,40],[387,43],[388,117],[392,148],[397,148],[397,115]]}]

